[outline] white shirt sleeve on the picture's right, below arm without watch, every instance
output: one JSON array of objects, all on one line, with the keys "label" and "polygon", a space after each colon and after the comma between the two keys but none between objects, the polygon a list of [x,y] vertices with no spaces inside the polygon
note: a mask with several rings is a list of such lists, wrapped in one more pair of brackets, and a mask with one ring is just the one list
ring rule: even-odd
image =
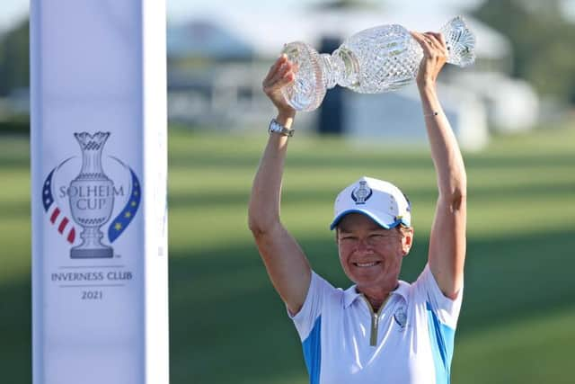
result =
[{"label": "white shirt sleeve on the picture's right, below arm without watch", "polygon": [[413,283],[413,286],[416,294],[427,302],[427,305],[436,314],[438,320],[446,326],[456,329],[464,294],[463,286],[457,292],[456,299],[447,298],[439,289],[438,281],[435,280],[433,273],[429,269],[429,264],[425,265],[423,272],[421,272],[417,281]]}]

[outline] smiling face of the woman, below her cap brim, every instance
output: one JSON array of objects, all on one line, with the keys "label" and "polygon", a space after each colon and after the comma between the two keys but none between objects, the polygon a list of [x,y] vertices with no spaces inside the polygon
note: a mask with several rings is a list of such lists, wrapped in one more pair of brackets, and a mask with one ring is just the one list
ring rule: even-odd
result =
[{"label": "smiling face of the woman, below her cap brim", "polygon": [[385,229],[360,213],[350,213],[337,228],[340,263],[349,280],[363,288],[394,290],[403,256],[411,248],[412,231]]}]

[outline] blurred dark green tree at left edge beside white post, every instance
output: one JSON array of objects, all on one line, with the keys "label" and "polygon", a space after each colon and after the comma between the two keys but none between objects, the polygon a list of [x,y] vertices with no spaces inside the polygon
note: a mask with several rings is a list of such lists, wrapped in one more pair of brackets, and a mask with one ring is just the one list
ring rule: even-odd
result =
[{"label": "blurred dark green tree at left edge beside white post", "polygon": [[29,21],[0,37],[0,95],[30,85]]}]

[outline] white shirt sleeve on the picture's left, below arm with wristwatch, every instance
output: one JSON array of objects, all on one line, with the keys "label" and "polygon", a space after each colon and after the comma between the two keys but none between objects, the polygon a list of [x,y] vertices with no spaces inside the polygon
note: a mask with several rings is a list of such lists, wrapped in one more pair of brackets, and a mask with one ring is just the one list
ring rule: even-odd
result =
[{"label": "white shirt sleeve on the picture's left, below arm with wristwatch", "polygon": [[305,296],[304,305],[295,315],[290,314],[288,310],[288,317],[293,320],[302,342],[312,332],[315,322],[322,315],[323,302],[334,290],[336,289],[332,284],[312,271],[312,280]]}]

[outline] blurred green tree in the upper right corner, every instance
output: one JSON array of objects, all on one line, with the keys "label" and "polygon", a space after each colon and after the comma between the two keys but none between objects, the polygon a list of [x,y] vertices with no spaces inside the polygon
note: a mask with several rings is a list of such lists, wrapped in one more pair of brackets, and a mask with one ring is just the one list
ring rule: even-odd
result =
[{"label": "blurred green tree in the upper right corner", "polygon": [[473,15],[509,37],[513,76],[575,104],[575,23],[563,16],[562,0],[487,0]]}]

